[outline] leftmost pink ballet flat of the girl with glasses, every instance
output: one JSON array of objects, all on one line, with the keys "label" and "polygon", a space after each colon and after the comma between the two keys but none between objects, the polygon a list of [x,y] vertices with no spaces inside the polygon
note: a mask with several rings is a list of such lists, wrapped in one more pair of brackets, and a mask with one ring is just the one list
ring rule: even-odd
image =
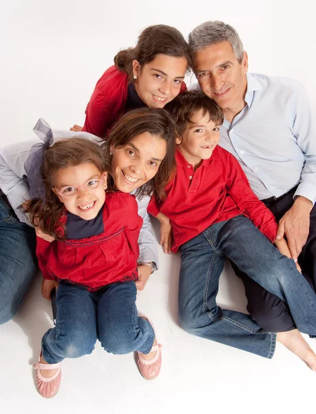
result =
[{"label": "leftmost pink ballet flat of the girl with glasses", "polygon": [[[40,359],[41,356],[39,357],[39,361]],[[41,362],[36,362],[33,368],[36,369],[36,387],[39,393],[44,398],[54,397],[57,391],[59,391],[61,384],[61,362],[57,364],[42,364]],[[57,369],[57,371],[52,377],[45,378],[41,375],[40,369]]]}]

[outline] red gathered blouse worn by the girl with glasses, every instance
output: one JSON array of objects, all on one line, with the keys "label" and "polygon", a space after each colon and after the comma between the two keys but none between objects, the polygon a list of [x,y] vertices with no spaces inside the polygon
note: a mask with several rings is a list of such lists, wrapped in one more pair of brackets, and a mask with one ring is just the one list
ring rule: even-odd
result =
[{"label": "red gathered blouse worn by the girl with glasses", "polygon": [[[63,217],[66,221],[67,215]],[[36,255],[44,279],[98,290],[114,282],[137,280],[138,235],[143,219],[134,195],[107,193],[104,232],[85,239],[46,242],[37,237]]]}]

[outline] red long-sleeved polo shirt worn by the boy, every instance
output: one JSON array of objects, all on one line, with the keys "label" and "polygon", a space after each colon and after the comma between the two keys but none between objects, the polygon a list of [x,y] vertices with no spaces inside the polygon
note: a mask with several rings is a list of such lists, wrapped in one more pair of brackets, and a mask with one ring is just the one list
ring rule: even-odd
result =
[{"label": "red long-sleeved polo shirt worn by the boy", "polygon": [[194,172],[193,166],[177,150],[176,163],[176,176],[166,186],[166,199],[157,203],[152,197],[147,208],[155,217],[159,212],[169,217],[173,253],[211,224],[240,214],[249,217],[274,242],[275,218],[253,193],[233,155],[217,146],[211,158],[203,160]]}]

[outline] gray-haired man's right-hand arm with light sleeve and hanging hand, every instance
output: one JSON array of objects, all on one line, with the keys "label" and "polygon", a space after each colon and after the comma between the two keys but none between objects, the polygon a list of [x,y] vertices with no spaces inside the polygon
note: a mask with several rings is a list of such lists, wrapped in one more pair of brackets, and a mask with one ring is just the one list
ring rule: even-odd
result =
[{"label": "gray-haired man's right-hand arm with light sleeve and hanging hand", "polygon": [[304,154],[304,168],[295,191],[294,204],[280,220],[277,239],[286,236],[291,256],[297,261],[306,244],[310,210],[316,201],[316,129],[306,90],[300,83],[295,83],[295,93],[293,135]]}]

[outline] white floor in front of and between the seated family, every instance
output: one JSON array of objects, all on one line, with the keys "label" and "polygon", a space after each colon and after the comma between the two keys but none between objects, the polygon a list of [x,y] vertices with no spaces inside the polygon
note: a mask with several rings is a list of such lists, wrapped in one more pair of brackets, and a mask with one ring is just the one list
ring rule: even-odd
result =
[{"label": "white floor in front of and between the seated family", "polygon": [[[282,345],[268,360],[181,330],[176,315],[179,265],[179,255],[169,257],[160,250],[160,270],[138,293],[138,310],[154,321],[163,344],[159,377],[143,380],[134,355],[110,355],[97,344],[92,355],[63,362],[61,388],[51,400],[36,392],[32,372],[41,337],[52,326],[39,275],[17,317],[0,326],[0,413],[315,411],[316,374]],[[218,302],[245,311],[240,280],[229,266],[221,279]],[[316,349],[315,339],[308,341]]]}]

